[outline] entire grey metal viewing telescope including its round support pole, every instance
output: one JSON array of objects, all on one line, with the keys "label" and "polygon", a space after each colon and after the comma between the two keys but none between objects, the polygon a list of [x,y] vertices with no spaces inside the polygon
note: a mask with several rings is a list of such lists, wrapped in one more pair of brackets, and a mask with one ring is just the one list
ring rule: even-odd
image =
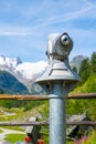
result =
[{"label": "entire grey metal viewing telescope including its round support pole", "polygon": [[46,50],[49,65],[36,80],[50,99],[50,144],[65,144],[66,141],[66,95],[79,80],[68,64],[72,48],[67,33],[51,34]]}]

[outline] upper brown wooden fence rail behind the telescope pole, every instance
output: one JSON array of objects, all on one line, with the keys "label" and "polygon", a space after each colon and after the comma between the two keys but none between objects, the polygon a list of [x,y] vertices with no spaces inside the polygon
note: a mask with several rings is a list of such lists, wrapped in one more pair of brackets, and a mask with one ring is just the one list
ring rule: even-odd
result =
[{"label": "upper brown wooden fence rail behind the telescope pole", "polygon": [[[0,94],[0,100],[38,101],[47,100],[47,95],[11,95]],[[67,99],[96,99],[96,93],[70,94]]]}]

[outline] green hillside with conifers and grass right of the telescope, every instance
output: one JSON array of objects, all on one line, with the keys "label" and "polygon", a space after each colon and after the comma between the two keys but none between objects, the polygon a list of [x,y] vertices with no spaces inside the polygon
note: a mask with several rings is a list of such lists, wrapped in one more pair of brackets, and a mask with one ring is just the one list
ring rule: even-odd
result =
[{"label": "green hillside with conifers and grass right of the telescope", "polygon": [[[73,68],[76,71],[76,68]],[[96,52],[93,52],[90,60],[84,59],[79,66],[78,75],[81,81],[75,86],[73,93],[96,93]],[[67,113],[84,113],[87,111],[92,119],[96,120],[95,100],[72,100],[67,101]]]}]

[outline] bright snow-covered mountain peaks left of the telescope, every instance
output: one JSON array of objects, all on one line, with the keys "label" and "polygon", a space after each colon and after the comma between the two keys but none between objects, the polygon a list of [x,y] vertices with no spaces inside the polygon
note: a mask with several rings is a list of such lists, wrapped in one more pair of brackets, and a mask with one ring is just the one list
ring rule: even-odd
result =
[{"label": "bright snow-covered mountain peaks left of the telescope", "polygon": [[18,79],[34,79],[35,75],[42,73],[47,62],[22,62],[20,58],[8,58],[0,55],[0,70],[4,70],[15,75]]}]

